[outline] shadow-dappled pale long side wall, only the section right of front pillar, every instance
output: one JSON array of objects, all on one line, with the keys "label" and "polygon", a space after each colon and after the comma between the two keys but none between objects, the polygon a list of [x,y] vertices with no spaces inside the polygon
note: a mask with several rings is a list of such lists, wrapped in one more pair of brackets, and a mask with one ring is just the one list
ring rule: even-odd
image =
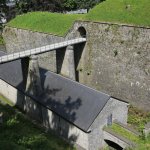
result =
[{"label": "shadow-dappled pale long side wall, only the section right of front pillar", "polygon": [[43,124],[46,128],[56,131],[58,135],[65,138],[69,143],[88,149],[88,133],[85,133],[44,107],[42,107],[42,115]]}]

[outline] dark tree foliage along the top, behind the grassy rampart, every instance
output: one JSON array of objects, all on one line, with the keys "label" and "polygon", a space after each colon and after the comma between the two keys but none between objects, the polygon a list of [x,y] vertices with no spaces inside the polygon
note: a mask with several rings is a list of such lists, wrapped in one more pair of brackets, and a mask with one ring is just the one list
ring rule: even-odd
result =
[{"label": "dark tree foliage along the top, behind the grassy rampart", "polygon": [[103,0],[14,0],[16,5],[9,7],[9,0],[0,0],[0,12],[7,16],[9,21],[15,15],[33,12],[50,11],[64,12],[77,9],[90,9]]}]

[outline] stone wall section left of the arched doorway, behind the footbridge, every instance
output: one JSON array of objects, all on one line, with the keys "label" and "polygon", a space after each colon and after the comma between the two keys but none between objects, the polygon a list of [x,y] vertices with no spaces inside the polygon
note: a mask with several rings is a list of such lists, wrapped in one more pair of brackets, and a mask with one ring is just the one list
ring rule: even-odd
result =
[{"label": "stone wall section left of the arched doorway, behind the footbridge", "polygon": [[[19,52],[63,41],[63,37],[33,32],[17,28],[5,27],[3,38],[6,41],[7,53]],[[56,72],[56,51],[40,54],[39,64],[42,68]]]}]

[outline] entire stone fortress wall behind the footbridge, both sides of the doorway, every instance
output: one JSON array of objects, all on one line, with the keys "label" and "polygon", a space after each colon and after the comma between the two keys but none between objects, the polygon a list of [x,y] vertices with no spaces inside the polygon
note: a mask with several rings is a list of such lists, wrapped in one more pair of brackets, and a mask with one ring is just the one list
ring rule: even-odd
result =
[{"label": "entire stone fortress wall behind the footbridge, both sides of the doorway", "polygon": [[[79,27],[86,30],[87,42],[74,46],[77,80],[149,110],[150,28],[76,21],[65,37],[11,27],[5,27],[3,37],[7,52],[13,52],[80,36]],[[60,73],[64,58],[65,49],[48,52],[39,64]]]}]

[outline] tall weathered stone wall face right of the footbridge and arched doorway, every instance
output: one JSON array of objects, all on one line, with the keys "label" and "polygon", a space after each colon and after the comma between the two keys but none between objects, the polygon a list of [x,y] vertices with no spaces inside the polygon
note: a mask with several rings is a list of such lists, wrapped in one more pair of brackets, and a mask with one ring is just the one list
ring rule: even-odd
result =
[{"label": "tall weathered stone wall face right of the footbridge and arched doorway", "polygon": [[81,26],[79,82],[150,111],[150,28],[78,21],[70,34]]}]

